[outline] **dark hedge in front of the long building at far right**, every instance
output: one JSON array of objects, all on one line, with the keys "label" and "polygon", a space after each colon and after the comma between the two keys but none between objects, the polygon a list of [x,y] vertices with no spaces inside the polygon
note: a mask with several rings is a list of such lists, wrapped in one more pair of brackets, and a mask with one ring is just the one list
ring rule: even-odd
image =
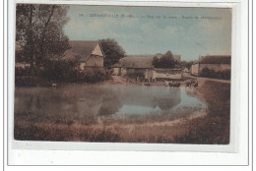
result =
[{"label": "dark hedge in front of the long building at far right", "polygon": [[213,69],[204,68],[201,72],[202,77],[230,80],[230,70],[215,71]]}]

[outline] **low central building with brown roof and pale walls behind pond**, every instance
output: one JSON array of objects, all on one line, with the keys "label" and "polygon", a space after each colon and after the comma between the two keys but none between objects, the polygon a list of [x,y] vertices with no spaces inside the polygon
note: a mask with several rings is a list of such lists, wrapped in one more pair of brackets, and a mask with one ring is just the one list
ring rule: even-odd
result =
[{"label": "low central building with brown roof and pale walls behind pond", "polygon": [[[130,55],[119,60],[112,66],[113,75],[126,76],[135,75],[146,80],[176,80],[181,79],[181,68],[160,69],[153,65],[154,57],[157,55]],[[180,64],[180,55],[174,55],[174,60]]]}]

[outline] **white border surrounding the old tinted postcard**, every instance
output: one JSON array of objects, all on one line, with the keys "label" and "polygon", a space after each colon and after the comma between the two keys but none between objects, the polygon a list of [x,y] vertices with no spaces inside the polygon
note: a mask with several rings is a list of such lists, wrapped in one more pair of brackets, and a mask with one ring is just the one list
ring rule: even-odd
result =
[{"label": "white border surrounding the old tinted postcard", "polygon": [[[32,2],[34,1],[17,1],[17,2]],[[41,3],[42,1],[36,1],[36,3]],[[10,28],[14,27],[14,16],[12,16],[12,12],[14,12],[14,1],[9,1],[9,61],[8,61],[8,77],[9,77],[9,143],[8,143],[8,156],[9,156],[9,164],[60,164],[60,165],[73,165],[73,164],[170,164],[170,165],[208,165],[208,164],[218,164],[218,165],[239,165],[239,164],[247,164],[248,155],[247,145],[248,144],[248,116],[247,116],[247,37],[245,34],[243,36],[242,32],[247,32],[247,6],[246,2],[242,0],[234,1],[224,1],[229,3],[169,3],[169,2],[101,2],[101,1],[43,1],[43,3],[65,3],[65,4],[88,4],[88,5],[137,5],[137,6],[175,6],[175,7],[233,7],[233,18],[235,18],[235,23],[233,23],[232,28],[232,38],[235,43],[232,43],[232,83],[231,83],[231,106],[235,106],[235,108],[231,107],[231,136],[230,136],[230,145],[190,145],[190,144],[156,144],[156,143],[96,143],[96,142],[12,142],[13,135],[13,97],[14,97],[14,77],[13,77],[13,69],[14,69],[14,31]],[[181,2],[181,1],[180,1]],[[183,1],[184,2],[184,1]],[[210,2],[210,1],[200,1],[200,2]],[[213,2],[213,1],[212,1]],[[217,2],[217,1],[215,1]],[[157,5],[156,5],[157,4]],[[235,31],[234,31],[235,30]],[[234,41],[235,40],[235,41]],[[233,59],[233,57],[235,58]],[[240,56],[245,56],[241,58]],[[235,68],[235,69],[234,69]],[[243,87],[243,88],[241,88]],[[235,93],[236,92],[236,93]],[[237,93],[240,92],[240,93]],[[243,99],[243,100],[240,100]],[[243,109],[243,110],[242,110]],[[245,115],[240,115],[240,114]],[[234,115],[233,115],[234,114]],[[241,116],[241,117],[240,117]],[[237,133],[239,132],[239,136]],[[243,145],[242,145],[243,144]],[[244,145],[245,144],[245,145]],[[45,150],[54,148],[54,149],[91,149],[89,150]],[[14,149],[14,147],[19,148],[36,148],[34,149]],[[97,151],[92,151],[92,149],[96,149]],[[107,151],[102,151],[107,150]],[[113,153],[114,158],[119,158],[118,161],[113,161],[112,158],[104,158],[104,161],[94,160],[94,157],[98,157],[97,154],[102,156],[108,156],[109,150],[115,150]],[[119,150],[119,151],[118,151]],[[120,150],[157,150],[155,152],[150,151],[120,151]],[[185,150],[185,151],[223,151],[221,153],[222,157],[220,157],[220,153],[218,152],[160,152],[160,151],[168,151],[168,150]],[[224,152],[236,152],[236,153],[224,153]],[[121,153],[120,153],[121,152]],[[69,154],[68,157],[63,157],[64,154]],[[126,157],[128,157],[129,162],[127,163],[126,157],[122,158],[120,154],[126,153]],[[40,160],[33,160],[33,156],[41,156],[41,154],[50,154],[53,157],[53,160],[49,160],[46,158],[40,158]],[[85,158],[78,157],[80,155],[87,156]],[[146,154],[146,155],[145,155]],[[151,154],[151,155],[149,155]],[[161,156],[158,161],[153,160],[154,155],[159,154]],[[92,157],[89,157],[89,156]],[[196,157],[195,157],[196,155]],[[62,156],[62,157],[60,157]],[[119,156],[119,157],[118,157]],[[145,159],[149,160],[136,160],[139,157],[145,157]],[[166,156],[166,158],[164,157]],[[58,158],[61,158],[59,160]],[[75,157],[76,160],[70,159]],[[143,158],[144,158],[143,157]],[[69,159],[68,159],[69,158]],[[189,159],[187,159],[189,158]],[[214,160],[213,160],[214,158]],[[239,158],[239,159],[238,159]],[[156,158],[155,158],[156,159]],[[161,159],[161,160],[160,160]],[[54,162],[53,162],[54,161]]]}]

